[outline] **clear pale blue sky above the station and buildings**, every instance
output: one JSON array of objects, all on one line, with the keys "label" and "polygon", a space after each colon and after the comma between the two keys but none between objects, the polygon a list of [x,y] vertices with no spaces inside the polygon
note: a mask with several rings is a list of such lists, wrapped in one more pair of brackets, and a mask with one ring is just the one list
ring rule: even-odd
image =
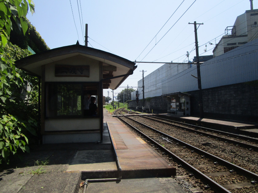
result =
[{"label": "clear pale blue sky above the station and buildings", "polygon": [[[192,61],[196,56],[194,25],[189,25],[189,22],[203,23],[197,29],[199,55],[212,55],[214,44],[225,35],[225,28],[233,26],[237,16],[245,10],[250,10],[249,0],[33,2],[35,13],[29,13],[27,17],[51,49],[76,44],[77,40],[84,45],[87,23],[89,47],[131,61],[164,63],[184,62],[186,51],[190,52],[189,60]],[[253,8],[258,9],[258,0],[253,0]],[[205,48],[207,52],[204,52]],[[138,67],[134,74],[129,76],[121,87],[136,87],[142,78],[142,70],[146,71],[146,76],[163,65],[136,64]],[[119,93],[122,89],[124,88],[118,88],[114,93]],[[108,89],[104,89],[104,96],[108,96],[107,91]],[[111,94],[110,92],[109,96]]]}]

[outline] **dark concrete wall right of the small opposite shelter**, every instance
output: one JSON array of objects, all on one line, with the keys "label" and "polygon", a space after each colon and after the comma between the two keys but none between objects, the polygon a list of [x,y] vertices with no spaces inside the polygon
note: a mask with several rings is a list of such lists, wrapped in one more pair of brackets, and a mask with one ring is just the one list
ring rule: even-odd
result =
[{"label": "dark concrete wall right of the small opposite shelter", "polygon": [[[206,117],[257,122],[258,81],[202,90]],[[191,94],[191,115],[199,115],[198,91]]]}]

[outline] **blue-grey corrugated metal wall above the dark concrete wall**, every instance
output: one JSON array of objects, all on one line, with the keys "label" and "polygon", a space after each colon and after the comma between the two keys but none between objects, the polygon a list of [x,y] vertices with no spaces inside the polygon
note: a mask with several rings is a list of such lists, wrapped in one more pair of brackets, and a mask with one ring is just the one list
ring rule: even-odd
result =
[{"label": "blue-grey corrugated metal wall above the dark concrete wall", "polygon": [[[258,39],[200,65],[202,89],[258,80]],[[162,94],[198,90],[196,65],[162,79]]]}]

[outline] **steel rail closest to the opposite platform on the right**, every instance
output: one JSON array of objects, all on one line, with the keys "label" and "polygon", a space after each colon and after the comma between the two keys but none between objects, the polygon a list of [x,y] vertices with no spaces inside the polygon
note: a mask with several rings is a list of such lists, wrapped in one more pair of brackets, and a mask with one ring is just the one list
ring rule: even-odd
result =
[{"label": "steel rail closest to the opposite platform on the right", "polygon": [[[244,140],[249,140],[249,141],[258,143],[257,138],[247,137],[247,136],[243,136],[243,135],[238,135],[238,134],[229,133],[229,132],[225,132],[225,131],[220,131],[220,130],[216,130],[216,129],[210,129],[210,128],[206,128],[206,127],[200,127],[200,126],[191,125],[191,124],[188,124],[188,123],[181,123],[179,121],[164,119],[164,118],[161,118],[161,117],[155,117],[155,116],[151,116],[151,115],[144,115],[144,117],[148,117],[148,118],[149,117],[154,117],[154,118],[157,118],[157,119],[172,121],[172,122],[175,122],[175,123],[178,123],[178,124],[183,124],[183,125],[187,125],[187,126],[190,126],[190,127],[195,127],[195,128],[201,129],[201,130],[208,130],[208,131],[211,131],[211,132],[213,131],[213,132],[216,132],[216,133],[221,133],[221,134],[224,134],[224,135],[230,135],[230,136],[235,137],[235,138],[241,138],[241,139],[244,139]],[[173,123],[170,123],[170,124],[174,125]],[[174,126],[182,127],[182,126],[178,126],[178,125],[174,125]]]}]

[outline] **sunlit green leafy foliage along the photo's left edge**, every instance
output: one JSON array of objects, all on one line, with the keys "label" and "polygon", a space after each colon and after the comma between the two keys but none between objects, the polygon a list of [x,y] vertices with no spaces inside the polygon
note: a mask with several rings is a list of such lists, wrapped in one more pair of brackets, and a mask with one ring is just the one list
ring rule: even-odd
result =
[{"label": "sunlit green leafy foliage along the photo's left edge", "polygon": [[20,150],[29,152],[28,136],[36,135],[37,121],[33,113],[28,115],[28,112],[37,112],[35,103],[31,103],[29,97],[26,100],[22,98],[22,92],[26,91],[28,84],[25,78],[29,79],[29,76],[16,69],[13,63],[31,53],[8,43],[14,25],[23,34],[26,33],[28,25],[25,18],[29,8],[34,13],[34,3],[31,0],[0,0],[1,163],[9,163],[10,156]]}]

